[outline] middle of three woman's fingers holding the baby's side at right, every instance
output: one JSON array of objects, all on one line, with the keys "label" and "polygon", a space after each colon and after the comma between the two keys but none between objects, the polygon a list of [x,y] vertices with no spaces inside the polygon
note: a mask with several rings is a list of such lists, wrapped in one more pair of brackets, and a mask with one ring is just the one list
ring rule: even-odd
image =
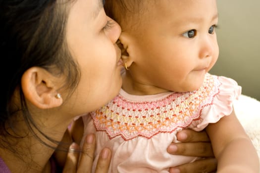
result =
[{"label": "middle of three woman's fingers holding the baby's side at right", "polygon": [[211,143],[209,142],[181,142],[171,143],[167,152],[174,155],[214,157]]}]

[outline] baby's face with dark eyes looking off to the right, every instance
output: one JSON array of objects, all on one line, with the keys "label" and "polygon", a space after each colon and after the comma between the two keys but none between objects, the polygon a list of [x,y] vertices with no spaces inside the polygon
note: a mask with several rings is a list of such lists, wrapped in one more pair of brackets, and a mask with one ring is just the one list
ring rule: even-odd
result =
[{"label": "baby's face with dark eyes looking off to the right", "polygon": [[139,17],[134,32],[122,26],[133,37],[133,79],[160,92],[199,88],[219,53],[216,0],[156,0]]}]

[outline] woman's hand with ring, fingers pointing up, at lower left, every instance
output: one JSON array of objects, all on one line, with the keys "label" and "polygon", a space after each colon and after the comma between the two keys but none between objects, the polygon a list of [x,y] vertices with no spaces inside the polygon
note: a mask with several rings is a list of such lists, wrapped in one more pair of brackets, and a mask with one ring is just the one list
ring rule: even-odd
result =
[{"label": "woman's hand with ring, fingers pointing up, at lower left", "polygon": [[[92,164],[95,153],[95,135],[89,134],[85,138],[85,142],[80,155],[79,145],[72,143],[69,147],[66,163],[63,173],[91,173]],[[104,148],[100,154],[95,173],[107,173],[111,159],[111,151]]]}]

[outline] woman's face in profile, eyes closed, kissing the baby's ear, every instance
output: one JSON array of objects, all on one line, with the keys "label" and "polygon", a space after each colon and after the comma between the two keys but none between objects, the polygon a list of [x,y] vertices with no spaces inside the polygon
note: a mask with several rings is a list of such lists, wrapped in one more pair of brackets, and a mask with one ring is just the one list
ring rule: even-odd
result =
[{"label": "woman's face in profile, eyes closed, kissing the baby's ear", "polygon": [[122,61],[115,42],[120,33],[120,26],[106,16],[102,0],[76,0],[72,4],[66,38],[81,71],[79,85],[69,100],[74,115],[96,110],[118,93]]}]

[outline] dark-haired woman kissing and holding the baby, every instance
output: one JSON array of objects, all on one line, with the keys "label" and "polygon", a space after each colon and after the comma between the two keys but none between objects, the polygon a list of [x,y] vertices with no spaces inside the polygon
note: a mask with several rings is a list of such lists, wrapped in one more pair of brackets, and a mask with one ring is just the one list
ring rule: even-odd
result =
[{"label": "dark-haired woman kissing and holding the baby", "polygon": [[[0,23],[0,171],[51,172],[50,158],[70,122],[107,103],[121,87],[115,44],[121,29],[101,0],[0,0]],[[90,146],[94,135],[87,136],[78,172],[91,170]],[[200,153],[192,148],[188,155]],[[70,151],[75,149],[72,144]],[[102,152],[97,173],[106,172],[111,155]],[[77,155],[68,153],[64,172],[76,171]]]}]

